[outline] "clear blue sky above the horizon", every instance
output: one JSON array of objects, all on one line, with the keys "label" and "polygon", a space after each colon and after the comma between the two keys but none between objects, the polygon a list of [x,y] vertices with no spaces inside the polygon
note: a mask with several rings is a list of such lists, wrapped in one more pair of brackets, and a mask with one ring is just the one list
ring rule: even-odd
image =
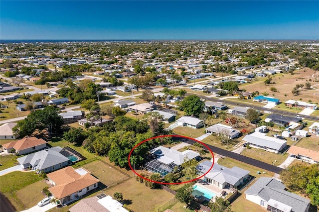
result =
[{"label": "clear blue sky above the horizon", "polygon": [[0,1],[0,39],[319,39],[319,1]]}]

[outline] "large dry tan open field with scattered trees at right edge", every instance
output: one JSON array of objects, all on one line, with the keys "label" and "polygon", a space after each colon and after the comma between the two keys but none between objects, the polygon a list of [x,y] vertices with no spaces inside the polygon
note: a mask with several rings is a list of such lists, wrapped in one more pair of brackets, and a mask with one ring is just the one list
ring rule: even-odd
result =
[{"label": "large dry tan open field with scattered trees at right edge", "polygon": [[[307,82],[311,83],[312,85],[316,85],[319,83],[313,82],[318,77],[318,74],[315,74],[315,71],[312,71],[310,69],[307,70],[297,70],[294,72],[294,74],[274,74],[272,75],[272,82],[274,84],[269,84],[265,86],[264,81],[268,77],[263,78],[256,78],[257,81],[252,81],[250,84],[244,84],[239,86],[239,89],[246,89],[248,92],[254,92],[259,91],[259,94],[262,95],[264,92],[267,92],[269,94],[269,97],[275,97],[277,99],[280,99],[281,102],[285,101],[285,94],[287,94],[287,100],[298,100],[302,99],[304,102],[308,102],[309,100],[312,100],[312,102],[317,103],[319,99],[319,91],[317,90],[307,90],[305,87],[302,89],[300,88],[300,93],[297,96],[294,96],[292,94],[293,88],[297,84],[306,84]],[[315,74],[315,75],[314,75]],[[310,82],[309,79],[312,81]],[[270,88],[275,87],[278,92],[271,92]],[[275,94],[275,96],[273,96]]]}]

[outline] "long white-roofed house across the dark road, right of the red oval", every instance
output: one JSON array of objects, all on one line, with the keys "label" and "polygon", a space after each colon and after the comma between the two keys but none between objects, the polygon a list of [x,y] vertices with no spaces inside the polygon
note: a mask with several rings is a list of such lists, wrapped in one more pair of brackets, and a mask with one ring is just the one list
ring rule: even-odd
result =
[{"label": "long white-roofed house across the dark road, right of the red oval", "polygon": [[245,135],[243,141],[249,143],[250,147],[275,153],[280,152],[287,145],[286,140],[270,137],[261,132],[254,132],[252,134]]}]

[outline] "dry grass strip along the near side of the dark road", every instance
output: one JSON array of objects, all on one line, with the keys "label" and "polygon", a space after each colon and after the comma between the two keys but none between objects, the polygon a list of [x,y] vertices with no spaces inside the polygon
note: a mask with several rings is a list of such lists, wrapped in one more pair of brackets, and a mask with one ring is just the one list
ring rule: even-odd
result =
[{"label": "dry grass strip along the near side of the dark road", "polygon": [[[273,172],[268,172],[267,170],[258,168],[256,166],[249,165],[247,163],[240,162],[238,160],[232,159],[232,158],[219,158],[217,163],[219,165],[232,168],[234,166],[237,166],[239,168],[245,169],[247,171],[250,171],[249,175],[254,176],[256,178],[260,177],[273,177]],[[257,174],[257,171],[260,171],[261,173],[266,172],[266,174]]]}]

